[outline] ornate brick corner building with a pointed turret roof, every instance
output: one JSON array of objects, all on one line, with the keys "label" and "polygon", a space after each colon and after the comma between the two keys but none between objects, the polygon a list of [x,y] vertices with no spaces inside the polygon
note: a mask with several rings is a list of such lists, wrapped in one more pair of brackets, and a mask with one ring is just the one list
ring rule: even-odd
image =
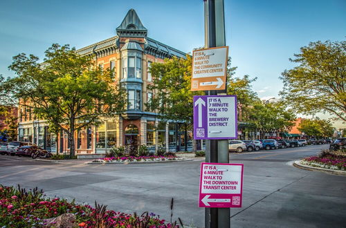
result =
[{"label": "ornate brick corner building with a pointed turret roof", "polygon": [[[185,53],[147,37],[147,28],[133,9],[116,28],[116,34],[77,51],[80,55],[92,55],[97,66],[114,70],[114,79],[127,89],[127,110],[121,116],[102,119],[99,126],[75,132],[76,153],[105,153],[113,146],[142,144],[149,146],[150,151],[158,148],[191,151],[192,132],[186,131],[183,122],[163,122],[157,113],[145,108],[154,95],[154,91],[147,89],[152,84],[150,64],[173,56],[185,58]],[[34,142],[49,151],[69,153],[67,135],[49,133],[44,120],[33,120],[30,111],[22,107],[19,107],[18,140]]]}]

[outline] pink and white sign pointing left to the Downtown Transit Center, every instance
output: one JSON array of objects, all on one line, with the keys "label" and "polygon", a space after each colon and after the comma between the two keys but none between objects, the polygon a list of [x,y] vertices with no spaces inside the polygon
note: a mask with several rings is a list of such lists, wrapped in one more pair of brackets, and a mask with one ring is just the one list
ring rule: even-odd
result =
[{"label": "pink and white sign pointing left to the Downtown Transit Center", "polygon": [[201,163],[199,207],[242,207],[244,164]]}]

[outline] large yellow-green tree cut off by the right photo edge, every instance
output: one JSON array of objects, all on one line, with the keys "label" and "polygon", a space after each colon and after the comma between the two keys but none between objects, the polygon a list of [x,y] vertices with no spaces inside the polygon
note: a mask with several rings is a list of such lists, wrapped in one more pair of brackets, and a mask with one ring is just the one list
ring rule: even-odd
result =
[{"label": "large yellow-green tree cut off by the right photo edge", "polygon": [[346,41],[311,42],[290,59],[299,64],[285,70],[280,94],[296,111],[329,113],[346,121]]}]

